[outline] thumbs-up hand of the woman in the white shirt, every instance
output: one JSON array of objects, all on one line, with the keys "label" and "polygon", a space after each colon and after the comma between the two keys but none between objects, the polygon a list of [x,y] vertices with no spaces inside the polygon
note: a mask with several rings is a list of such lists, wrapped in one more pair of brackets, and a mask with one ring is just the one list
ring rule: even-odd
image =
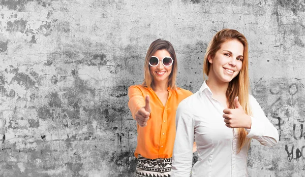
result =
[{"label": "thumbs-up hand of the woman in the white shirt", "polygon": [[243,111],[238,96],[234,99],[235,109],[224,109],[223,118],[229,128],[251,128],[251,117]]}]

